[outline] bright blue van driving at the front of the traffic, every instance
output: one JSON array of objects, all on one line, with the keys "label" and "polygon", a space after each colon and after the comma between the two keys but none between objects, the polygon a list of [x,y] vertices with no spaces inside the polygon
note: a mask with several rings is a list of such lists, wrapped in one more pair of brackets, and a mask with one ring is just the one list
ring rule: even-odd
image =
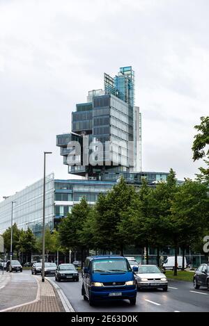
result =
[{"label": "bright blue van driving at the front of the traffic", "polygon": [[[137,272],[138,268],[135,268]],[[130,264],[123,256],[102,255],[86,258],[82,295],[93,305],[98,300],[130,300],[136,304],[137,284]]]}]

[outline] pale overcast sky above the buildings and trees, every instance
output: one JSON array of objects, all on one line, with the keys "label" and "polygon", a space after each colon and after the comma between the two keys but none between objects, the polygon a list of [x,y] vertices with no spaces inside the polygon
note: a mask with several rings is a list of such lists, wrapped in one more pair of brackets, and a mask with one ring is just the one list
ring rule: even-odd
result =
[{"label": "pale overcast sky above the buildings and trees", "polygon": [[[70,175],[56,134],[75,104],[132,65],[142,168],[194,177],[194,125],[209,107],[208,0],[0,0],[0,200]],[[71,177],[72,179],[72,177]]]}]

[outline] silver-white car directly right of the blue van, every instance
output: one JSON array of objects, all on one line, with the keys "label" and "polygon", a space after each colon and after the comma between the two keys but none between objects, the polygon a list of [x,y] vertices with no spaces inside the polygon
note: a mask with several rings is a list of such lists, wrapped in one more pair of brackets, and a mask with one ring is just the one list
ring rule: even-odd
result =
[{"label": "silver-white car directly right of the blue van", "polygon": [[168,280],[162,270],[156,265],[141,265],[136,272],[137,289],[142,288],[162,288],[168,289]]}]

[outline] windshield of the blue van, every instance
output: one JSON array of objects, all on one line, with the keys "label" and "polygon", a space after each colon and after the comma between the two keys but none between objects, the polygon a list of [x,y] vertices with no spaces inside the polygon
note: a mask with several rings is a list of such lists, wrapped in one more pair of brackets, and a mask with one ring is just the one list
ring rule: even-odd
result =
[{"label": "windshield of the blue van", "polygon": [[127,272],[130,267],[125,259],[98,259],[93,261],[93,272]]}]

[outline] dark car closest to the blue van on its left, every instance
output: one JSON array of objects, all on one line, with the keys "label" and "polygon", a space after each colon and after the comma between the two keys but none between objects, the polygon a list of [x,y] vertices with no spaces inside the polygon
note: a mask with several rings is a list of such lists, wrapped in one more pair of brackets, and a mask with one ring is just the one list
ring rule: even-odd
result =
[{"label": "dark car closest to the blue van on its left", "polygon": [[61,279],[72,279],[79,281],[79,272],[72,263],[61,263],[55,272],[55,280],[60,282]]}]

